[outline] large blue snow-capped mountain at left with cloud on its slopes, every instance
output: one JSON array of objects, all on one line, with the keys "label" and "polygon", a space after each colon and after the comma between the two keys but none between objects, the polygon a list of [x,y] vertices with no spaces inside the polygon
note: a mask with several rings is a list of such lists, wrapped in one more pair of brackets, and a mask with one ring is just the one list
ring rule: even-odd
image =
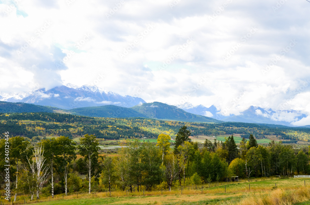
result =
[{"label": "large blue snow-capped mountain at left with cloud on its slopes", "polygon": [[107,89],[95,85],[76,86],[72,84],[61,85],[50,90],[38,89],[23,95],[0,94],[2,101],[25,102],[36,105],[52,106],[62,109],[77,107],[95,107],[102,105],[118,105],[122,107],[133,107],[145,103],[141,98],[122,96]]}]

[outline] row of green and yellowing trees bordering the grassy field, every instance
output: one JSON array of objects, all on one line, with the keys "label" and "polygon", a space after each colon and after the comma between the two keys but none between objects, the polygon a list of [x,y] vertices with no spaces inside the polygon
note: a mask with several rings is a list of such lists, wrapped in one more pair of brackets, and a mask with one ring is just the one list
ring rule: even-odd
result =
[{"label": "row of green and yellowing trees bordering the grassy field", "polygon": [[[253,135],[239,144],[233,135],[225,142],[192,142],[182,126],[170,148],[170,136],[159,134],[157,143],[123,140],[114,156],[100,154],[94,135],[85,134],[79,143],[69,137],[41,140],[33,146],[24,137],[11,137],[11,190],[15,193],[68,194],[103,190],[146,191],[158,187],[200,185],[239,178],[309,174],[308,147],[294,149],[272,141],[258,145]],[[0,140],[4,156],[5,140]],[[4,157],[3,157],[4,158]],[[0,162],[4,177],[4,162]],[[13,178],[14,177],[14,178]],[[3,186],[3,184],[2,184]]]}]

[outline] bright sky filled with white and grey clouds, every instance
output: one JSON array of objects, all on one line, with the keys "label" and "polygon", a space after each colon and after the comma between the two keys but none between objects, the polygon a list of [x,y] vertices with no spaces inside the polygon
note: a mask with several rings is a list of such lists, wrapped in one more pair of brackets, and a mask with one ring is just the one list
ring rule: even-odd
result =
[{"label": "bright sky filled with white and grey clouds", "polygon": [[[0,0],[0,92],[96,85],[310,114],[306,0]],[[294,125],[310,124],[310,117]]]}]

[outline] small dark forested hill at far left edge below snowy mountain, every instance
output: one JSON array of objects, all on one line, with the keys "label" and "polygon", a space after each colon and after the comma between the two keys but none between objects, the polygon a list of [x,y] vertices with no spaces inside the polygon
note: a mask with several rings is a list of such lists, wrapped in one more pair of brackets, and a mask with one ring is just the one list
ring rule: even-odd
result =
[{"label": "small dark forested hill at far left edge below snowy mountain", "polygon": [[8,112],[54,112],[51,108],[23,102],[0,101],[0,113]]}]

